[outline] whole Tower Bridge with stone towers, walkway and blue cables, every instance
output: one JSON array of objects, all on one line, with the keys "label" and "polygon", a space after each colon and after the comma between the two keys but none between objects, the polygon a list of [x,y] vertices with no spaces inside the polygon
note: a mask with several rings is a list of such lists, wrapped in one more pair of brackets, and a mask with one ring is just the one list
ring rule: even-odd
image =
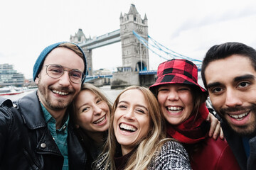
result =
[{"label": "whole Tower Bridge with stone towers, walkway and blue cables", "polygon": [[[87,57],[87,82],[97,84],[97,80],[106,78],[112,78],[112,89],[130,85],[150,86],[154,84],[156,80],[156,70],[149,69],[149,50],[154,54],[159,55],[151,47],[156,47],[156,50],[166,51],[165,54],[169,55],[170,60],[174,57],[181,57],[188,60],[200,62],[199,60],[193,60],[189,57],[180,55],[161,44],[154,45],[149,43],[148,35],[148,19],[146,14],[144,19],[138,13],[134,4],[131,4],[128,13],[119,16],[120,28],[110,33],[100,35],[95,38],[86,38],[82,29],[78,30],[75,35],[70,35],[70,42],[77,43],[85,52]],[[122,67],[117,67],[117,72],[113,72],[110,75],[93,75],[92,67],[92,50],[97,47],[103,47],[115,42],[121,42],[122,45]],[[159,55],[159,57],[162,57]],[[171,58],[170,58],[171,57]]]}]

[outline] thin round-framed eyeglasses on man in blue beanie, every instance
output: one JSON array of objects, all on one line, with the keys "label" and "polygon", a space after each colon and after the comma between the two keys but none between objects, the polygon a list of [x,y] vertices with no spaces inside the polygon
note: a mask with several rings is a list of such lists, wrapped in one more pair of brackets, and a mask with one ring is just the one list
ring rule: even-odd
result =
[{"label": "thin round-framed eyeglasses on man in blue beanie", "polygon": [[44,65],[44,67],[46,67],[46,74],[54,79],[60,78],[64,74],[64,71],[68,72],[70,81],[75,84],[79,84],[85,79],[85,74],[83,74],[83,72],[80,72],[78,69],[70,69],[68,67],[63,67],[62,65],[58,64],[48,64]]}]

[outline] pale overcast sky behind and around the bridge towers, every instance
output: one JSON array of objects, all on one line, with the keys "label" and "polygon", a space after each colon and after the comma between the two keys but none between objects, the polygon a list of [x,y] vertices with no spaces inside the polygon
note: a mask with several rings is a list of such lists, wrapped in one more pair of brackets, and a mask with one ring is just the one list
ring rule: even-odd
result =
[{"label": "pale overcast sky behind and around the bridge towers", "polygon": [[[255,0],[9,0],[0,2],[0,63],[32,78],[44,47],[68,41],[82,28],[92,38],[119,29],[120,13],[134,4],[149,35],[175,52],[202,60],[213,45],[243,42],[256,48]],[[149,53],[149,68],[163,62]],[[92,50],[94,69],[122,66],[121,42]]]}]

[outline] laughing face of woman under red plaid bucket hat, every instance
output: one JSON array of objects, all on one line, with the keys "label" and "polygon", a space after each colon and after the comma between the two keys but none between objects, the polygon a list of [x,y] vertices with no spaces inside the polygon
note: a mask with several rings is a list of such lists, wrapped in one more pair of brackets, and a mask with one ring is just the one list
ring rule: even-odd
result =
[{"label": "laughing face of woman under red plaid bucket hat", "polygon": [[183,123],[193,111],[191,88],[183,84],[166,84],[160,86],[157,100],[164,113],[164,118],[171,125]]}]

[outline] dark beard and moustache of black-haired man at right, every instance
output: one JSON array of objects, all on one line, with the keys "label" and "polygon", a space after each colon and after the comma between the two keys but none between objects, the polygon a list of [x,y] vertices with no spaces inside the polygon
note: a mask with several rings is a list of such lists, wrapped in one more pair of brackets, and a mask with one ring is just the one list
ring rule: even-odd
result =
[{"label": "dark beard and moustache of black-haired man at right", "polygon": [[[254,121],[247,125],[233,125],[232,123],[229,123],[228,120],[226,120],[225,116],[229,116],[228,113],[230,112],[236,112],[236,111],[250,111],[250,114],[254,118]],[[227,113],[228,112],[228,113]],[[230,128],[238,133],[238,135],[242,136],[251,136],[256,134],[256,106],[255,104],[251,104],[250,106],[237,106],[235,108],[220,108],[220,116],[225,120],[226,123],[230,126]]]}]

